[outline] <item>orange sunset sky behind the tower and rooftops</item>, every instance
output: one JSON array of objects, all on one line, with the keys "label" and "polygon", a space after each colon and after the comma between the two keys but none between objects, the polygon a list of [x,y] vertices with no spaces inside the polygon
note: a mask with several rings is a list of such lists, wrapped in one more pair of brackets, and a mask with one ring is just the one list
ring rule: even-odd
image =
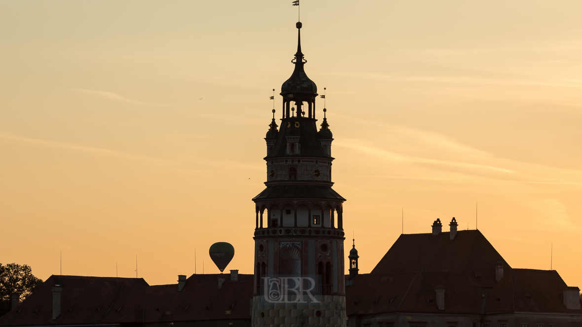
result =
[{"label": "orange sunset sky behind the tower and rooftops", "polygon": [[[478,202],[512,267],[549,269],[553,243],[553,269],[582,286],[580,13],[301,0],[360,272],[398,238],[402,210],[404,233],[452,217],[474,229]],[[269,96],[293,71],[296,21],[291,0],[1,1],[0,262],[46,279],[62,251],[63,274],[117,263],[132,277],[137,254],[154,285],[217,273],[208,248],[223,241],[227,269],[251,274]]]}]

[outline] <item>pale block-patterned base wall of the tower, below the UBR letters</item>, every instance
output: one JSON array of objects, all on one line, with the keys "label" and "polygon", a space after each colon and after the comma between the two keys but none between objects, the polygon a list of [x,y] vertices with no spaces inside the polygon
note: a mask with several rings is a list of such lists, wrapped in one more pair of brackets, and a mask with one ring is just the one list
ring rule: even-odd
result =
[{"label": "pale block-patterned base wall of the tower, below the UBR letters", "polygon": [[254,296],[251,308],[253,327],[340,327],[346,326],[346,297],[315,295],[317,302],[269,303]]}]

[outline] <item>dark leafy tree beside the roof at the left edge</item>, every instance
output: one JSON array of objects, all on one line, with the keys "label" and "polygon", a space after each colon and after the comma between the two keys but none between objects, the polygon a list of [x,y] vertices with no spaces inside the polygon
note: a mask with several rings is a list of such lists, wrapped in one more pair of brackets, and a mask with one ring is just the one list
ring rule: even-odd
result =
[{"label": "dark leafy tree beside the roof at the left edge", "polygon": [[0,317],[13,309],[12,293],[19,293],[22,302],[41,284],[29,265],[0,263]]}]

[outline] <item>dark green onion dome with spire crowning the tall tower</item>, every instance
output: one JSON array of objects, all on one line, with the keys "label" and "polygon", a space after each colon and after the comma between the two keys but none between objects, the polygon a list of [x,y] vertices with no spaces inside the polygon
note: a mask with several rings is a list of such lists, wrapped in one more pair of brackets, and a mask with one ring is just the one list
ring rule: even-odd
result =
[{"label": "dark green onion dome with spire crowning the tall tower", "polygon": [[281,95],[297,100],[308,100],[317,96],[317,85],[307,77],[303,69],[307,60],[304,61],[303,53],[301,52],[301,22],[298,22],[296,26],[299,33],[297,53],[295,53],[295,59],[291,61],[295,64],[295,69],[291,77],[281,85]]}]

